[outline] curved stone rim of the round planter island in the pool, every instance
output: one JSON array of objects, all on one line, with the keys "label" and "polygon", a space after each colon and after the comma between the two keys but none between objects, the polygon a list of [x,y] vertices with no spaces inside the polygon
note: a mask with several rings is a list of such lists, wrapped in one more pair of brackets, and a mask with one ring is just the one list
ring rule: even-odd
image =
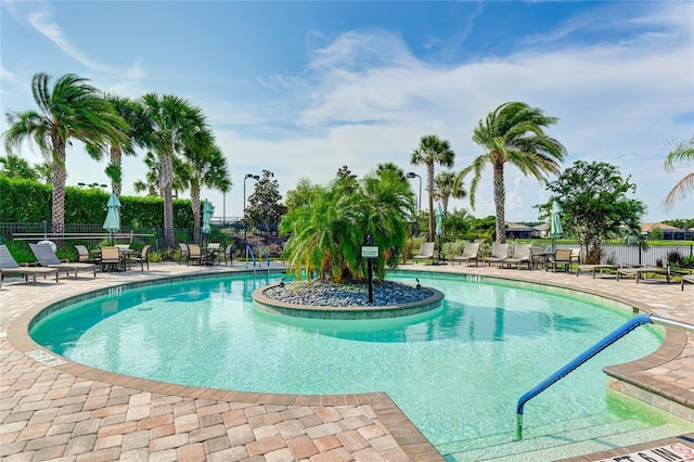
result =
[{"label": "curved stone rim of the round planter island in the pool", "polygon": [[335,320],[368,320],[368,319],[393,319],[406,316],[422,315],[434,311],[444,304],[444,293],[432,287],[422,287],[432,293],[427,298],[401,305],[387,306],[321,306],[321,305],[296,305],[270,298],[265,295],[266,291],[277,287],[280,284],[270,284],[253,291],[254,306],[258,309],[277,315],[291,316],[294,318],[308,319],[335,319]]}]

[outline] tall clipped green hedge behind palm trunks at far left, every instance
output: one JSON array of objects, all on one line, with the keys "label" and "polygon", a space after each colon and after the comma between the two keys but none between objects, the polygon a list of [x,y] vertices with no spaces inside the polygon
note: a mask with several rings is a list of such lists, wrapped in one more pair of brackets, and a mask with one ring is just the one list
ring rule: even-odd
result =
[{"label": "tall clipped green hedge behind palm trunks at far left", "polygon": [[[0,175],[0,222],[51,222],[51,184]],[[65,187],[66,223],[103,223],[108,193],[95,188]],[[163,227],[164,200],[121,196],[120,222],[133,227]],[[190,200],[174,200],[174,227],[192,228]]]}]

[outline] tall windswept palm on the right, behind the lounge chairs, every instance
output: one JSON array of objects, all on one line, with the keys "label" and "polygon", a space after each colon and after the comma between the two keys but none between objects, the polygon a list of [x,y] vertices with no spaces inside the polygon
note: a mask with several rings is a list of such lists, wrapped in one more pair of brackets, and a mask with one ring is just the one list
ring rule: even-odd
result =
[{"label": "tall windswept palm on the right, behind the lounge chairs", "polygon": [[503,169],[506,163],[517,167],[523,175],[532,176],[539,182],[548,174],[557,175],[560,163],[566,157],[566,150],[554,138],[544,133],[543,128],[556,124],[556,117],[549,117],[526,103],[510,102],[487,115],[473,133],[473,141],[485,149],[485,154],[475,158],[463,169],[458,181],[474,172],[470,183],[470,205],[475,208],[475,193],[481,172],[488,164],[493,170],[493,196],[497,211],[497,242],[506,242],[505,200]]}]

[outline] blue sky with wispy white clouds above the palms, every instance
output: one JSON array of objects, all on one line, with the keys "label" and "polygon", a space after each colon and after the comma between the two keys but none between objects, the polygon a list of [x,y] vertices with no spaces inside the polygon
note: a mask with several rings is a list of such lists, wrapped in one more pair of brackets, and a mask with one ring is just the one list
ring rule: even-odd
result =
[{"label": "blue sky with wispy white clouds above the palms", "polygon": [[[460,170],[483,153],[472,141],[478,120],[509,101],[560,118],[548,132],[568,151],[564,167],[608,162],[631,176],[645,221],[694,217],[692,195],[669,214],[660,207],[694,168],[663,169],[668,143],[694,133],[692,1],[1,0],[0,47],[3,115],[36,108],[37,72],[201,106],[234,183],[227,217],[242,215],[244,175],[264,169],[283,194],[301,177],[325,184],[343,165],[361,177],[395,162],[425,179],[409,164],[424,134],[449,140]],[[22,155],[41,162],[29,144]],[[76,144],[67,183],[107,183],[104,166]],[[142,155],[124,166],[131,194]],[[505,180],[506,219],[536,220],[548,193],[513,167]],[[473,215],[493,215],[491,190],[488,169]],[[221,193],[204,197],[222,216]]]}]

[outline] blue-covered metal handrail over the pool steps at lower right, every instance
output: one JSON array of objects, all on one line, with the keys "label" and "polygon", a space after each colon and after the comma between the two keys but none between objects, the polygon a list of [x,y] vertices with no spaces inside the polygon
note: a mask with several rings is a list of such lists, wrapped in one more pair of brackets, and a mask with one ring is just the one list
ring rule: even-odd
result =
[{"label": "blue-covered metal handrail over the pool steps at lower right", "polygon": [[588,348],[586,351],[577,356],[574,360],[568,362],[558,371],[554,372],[552,375],[547,377],[542,383],[540,383],[535,388],[527,392],[525,395],[523,395],[518,399],[518,402],[516,405],[516,414],[517,414],[516,436],[518,437],[518,439],[520,439],[523,435],[523,408],[525,407],[526,402],[528,402],[530,399],[535,398],[536,396],[544,392],[551,385],[558,382],[560,380],[565,377],[567,374],[576,370],[579,365],[581,365],[582,363],[584,363],[586,361],[588,361],[589,359],[597,355],[600,351],[604,350],[609,345],[614,344],[619,338],[624,337],[629,332],[633,331],[634,329],[637,329],[639,325],[642,325],[642,324],[660,324],[660,325],[665,325],[666,328],[673,328],[678,330],[694,332],[694,324],[677,321],[674,319],[661,318],[659,316],[647,315],[647,313],[639,315],[631,318],[629,321],[627,321],[626,323],[617,328],[615,331],[613,331],[611,334],[608,334],[606,337],[604,337],[603,339],[594,344],[592,347]]}]

